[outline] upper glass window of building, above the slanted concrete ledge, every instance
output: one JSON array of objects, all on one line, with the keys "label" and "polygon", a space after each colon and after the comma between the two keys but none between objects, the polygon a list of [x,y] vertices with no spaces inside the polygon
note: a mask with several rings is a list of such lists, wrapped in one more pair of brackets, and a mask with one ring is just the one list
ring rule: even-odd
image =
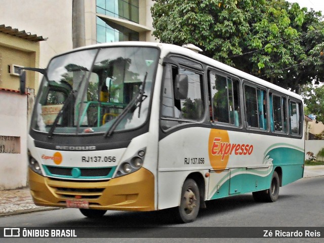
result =
[{"label": "upper glass window of building, above the slanted concrete ledge", "polygon": [[139,23],[138,0],[97,0],[96,11],[111,17]]}]

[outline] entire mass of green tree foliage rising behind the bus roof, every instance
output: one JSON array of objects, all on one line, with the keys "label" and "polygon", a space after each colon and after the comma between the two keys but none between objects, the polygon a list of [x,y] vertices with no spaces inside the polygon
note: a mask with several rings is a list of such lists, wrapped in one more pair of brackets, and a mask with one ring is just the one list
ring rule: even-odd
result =
[{"label": "entire mass of green tree foliage rising behind the bus roof", "polygon": [[320,12],[285,0],[156,0],[153,35],[298,91],[323,82]]}]

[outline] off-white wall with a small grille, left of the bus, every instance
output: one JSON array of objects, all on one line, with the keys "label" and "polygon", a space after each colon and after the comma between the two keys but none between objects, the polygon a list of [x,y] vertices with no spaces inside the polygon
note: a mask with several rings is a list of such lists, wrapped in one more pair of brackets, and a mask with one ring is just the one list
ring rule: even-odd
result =
[{"label": "off-white wall with a small grille, left of the bus", "polygon": [[17,153],[0,153],[0,190],[27,185],[26,107],[27,95],[0,90],[0,136],[16,137],[19,145]]}]

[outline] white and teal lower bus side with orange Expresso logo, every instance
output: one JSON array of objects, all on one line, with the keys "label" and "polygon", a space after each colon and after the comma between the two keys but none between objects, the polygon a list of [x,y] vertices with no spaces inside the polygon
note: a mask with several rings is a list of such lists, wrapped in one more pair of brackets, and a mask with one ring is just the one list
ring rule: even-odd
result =
[{"label": "white and teal lower bus side with orange Expresso logo", "polygon": [[302,139],[198,127],[173,132],[159,141],[158,209],[179,205],[190,173],[210,174],[208,200],[268,189],[276,168],[282,185],[296,181],[303,159]]}]

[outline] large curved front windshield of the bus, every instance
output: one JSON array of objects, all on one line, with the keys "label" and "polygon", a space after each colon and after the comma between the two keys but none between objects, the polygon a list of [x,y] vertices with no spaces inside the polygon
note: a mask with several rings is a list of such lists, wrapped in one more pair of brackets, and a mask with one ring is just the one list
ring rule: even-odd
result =
[{"label": "large curved front windshield of the bus", "polygon": [[143,125],[157,60],[158,50],[147,47],[87,49],[53,58],[39,88],[31,128],[52,136]]}]

